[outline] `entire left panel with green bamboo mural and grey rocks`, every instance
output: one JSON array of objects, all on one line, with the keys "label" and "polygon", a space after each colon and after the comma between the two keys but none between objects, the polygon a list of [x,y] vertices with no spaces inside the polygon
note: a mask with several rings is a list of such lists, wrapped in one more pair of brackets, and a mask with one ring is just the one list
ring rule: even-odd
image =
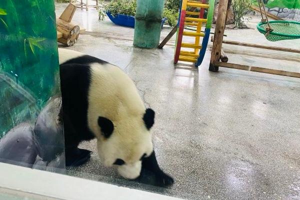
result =
[{"label": "entire left panel with green bamboo mural and grey rocks", "polygon": [[0,1],[0,161],[63,171],[53,0]]}]

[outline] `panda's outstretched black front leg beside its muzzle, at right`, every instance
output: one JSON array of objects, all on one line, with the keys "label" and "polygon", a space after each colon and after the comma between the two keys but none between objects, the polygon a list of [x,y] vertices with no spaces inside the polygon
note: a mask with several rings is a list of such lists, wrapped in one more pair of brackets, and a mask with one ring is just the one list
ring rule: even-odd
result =
[{"label": "panda's outstretched black front leg beside its muzzle, at right", "polygon": [[141,163],[141,173],[144,170],[148,170],[154,174],[154,180],[152,182],[155,186],[167,187],[174,183],[173,178],[159,168],[154,150],[150,156],[143,158]]}]

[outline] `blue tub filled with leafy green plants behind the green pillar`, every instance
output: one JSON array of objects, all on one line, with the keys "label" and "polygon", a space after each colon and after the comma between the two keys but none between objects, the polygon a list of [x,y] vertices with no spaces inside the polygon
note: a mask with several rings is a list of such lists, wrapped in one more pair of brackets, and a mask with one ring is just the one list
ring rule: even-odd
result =
[{"label": "blue tub filled with leafy green plants behind the green pillar", "polygon": [[[164,18],[161,20],[161,26],[167,20],[170,26],[174,26],[177,23],[178,18],[178,8],[169,8],[169,1],[166,0],[164,7]],[[128,27],[134,27],[135,23],[135,10],[136,10],[136,0],[111,0],[104,6],[99,8],[99,20],[103,20],[104,16],[107,15],[108,18],[117,25],[123,25]]]}]

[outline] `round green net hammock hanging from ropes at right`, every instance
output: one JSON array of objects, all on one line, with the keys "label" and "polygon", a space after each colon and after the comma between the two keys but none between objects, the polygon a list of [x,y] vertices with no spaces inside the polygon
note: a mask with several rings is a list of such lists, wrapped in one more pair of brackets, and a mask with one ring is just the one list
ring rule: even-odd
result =
[{"label": "round green net hammock hanging from ropes at right", "polygon": [[267,32],[267,22],[260,22],[257,24],[259,32],[264,34],[269,41],[278,41],[283,39],[299,39],[300,38],[300,22],[297,21],[269,21],[271,28]]}]

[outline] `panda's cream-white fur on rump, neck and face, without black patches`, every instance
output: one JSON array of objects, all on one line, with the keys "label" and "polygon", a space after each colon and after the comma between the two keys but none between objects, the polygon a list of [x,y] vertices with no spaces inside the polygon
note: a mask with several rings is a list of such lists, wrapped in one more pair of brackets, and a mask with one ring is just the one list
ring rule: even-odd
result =
[{"label": "panda's cream-white fur on rump, neck and face, without black patches", "polygon": [[[59,64],[84,55],[83,53],[58,48]],[[143,122],[145,106],[133,81],[120,68],[110,63],[90,63],[91,78],[88,90],[87,122],[97,138],[101,161],[112,166],[115,159],[126,164],[119,166],[119,173],[127,178],[139,175],[143,153],[150,155],[152,140]],[[114,132],[109,138],[101,135],[98,116],[113,121]]]}]

